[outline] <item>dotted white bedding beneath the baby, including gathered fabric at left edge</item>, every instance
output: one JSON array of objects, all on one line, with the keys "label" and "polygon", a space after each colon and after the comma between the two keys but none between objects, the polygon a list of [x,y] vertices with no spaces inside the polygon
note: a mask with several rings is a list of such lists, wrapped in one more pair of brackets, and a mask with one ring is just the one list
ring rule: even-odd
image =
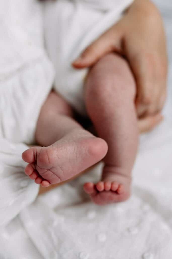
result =
[{"label": "dotted white bedding beneath the baby, including gathered fabric at left edge", "polygon": [[[156,0],[166,25],[169,94],[165,121],[144,134],[133,171],[133,194],[99,207],[82,190],[101,165],[38,197],[23,174],[27,147],[0,139],[0,259],[172,258],[172,3]],[[10,159],[9,159],[10,154]]]}]

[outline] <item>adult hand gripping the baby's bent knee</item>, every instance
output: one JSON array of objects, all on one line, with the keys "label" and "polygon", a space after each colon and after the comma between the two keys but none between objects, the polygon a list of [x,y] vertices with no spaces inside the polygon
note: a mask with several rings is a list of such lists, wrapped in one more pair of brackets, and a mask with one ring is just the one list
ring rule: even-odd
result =
[{"label": "adult hand gripping the baby's bent knee", "polygon": [[152,2],[135,0],[124,17],[88,46],[73,66],[92,66],[109,52],[124,55],[131,66],[138,117],[153,118],[165,103],[167,52],[161,15]]}]

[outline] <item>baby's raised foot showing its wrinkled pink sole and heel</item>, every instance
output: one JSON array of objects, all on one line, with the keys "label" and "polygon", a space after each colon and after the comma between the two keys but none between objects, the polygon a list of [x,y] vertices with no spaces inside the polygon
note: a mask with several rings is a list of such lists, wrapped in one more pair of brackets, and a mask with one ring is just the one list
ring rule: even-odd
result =
[{"label": "baby's raised foot showing its wrinkled pink sole and heel", "polygon": [[22,154],[25,173],[42,187],[63,182],[99,162],[107,153],[103,139],[74,130],[48,147],[32,147]]}]

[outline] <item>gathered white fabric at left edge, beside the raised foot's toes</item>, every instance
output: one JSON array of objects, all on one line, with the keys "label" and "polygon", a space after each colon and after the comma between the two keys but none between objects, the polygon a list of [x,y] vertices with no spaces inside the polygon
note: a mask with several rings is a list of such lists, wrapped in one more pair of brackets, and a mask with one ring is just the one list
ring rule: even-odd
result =
[{"label": "gathered white fabric at left edge, beside the raised foot's toes", "polygon": [[15,218],[38,194],[39,186],[24,174],[27,163],[21,154],[27,148],[0,139],[0,227]]}]

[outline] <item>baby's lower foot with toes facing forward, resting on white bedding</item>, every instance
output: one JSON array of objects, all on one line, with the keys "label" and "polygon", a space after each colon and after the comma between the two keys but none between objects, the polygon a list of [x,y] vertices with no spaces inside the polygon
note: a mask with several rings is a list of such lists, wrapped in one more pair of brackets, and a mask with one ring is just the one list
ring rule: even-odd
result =
[{"label": "baby's lower foot with toes facing forward, resting on white bedding", "polygon": [[104,172],[102,181],[84,184],[85,192],[98,205],[123,202],[130,196],[131,177],[121,173]]}]

